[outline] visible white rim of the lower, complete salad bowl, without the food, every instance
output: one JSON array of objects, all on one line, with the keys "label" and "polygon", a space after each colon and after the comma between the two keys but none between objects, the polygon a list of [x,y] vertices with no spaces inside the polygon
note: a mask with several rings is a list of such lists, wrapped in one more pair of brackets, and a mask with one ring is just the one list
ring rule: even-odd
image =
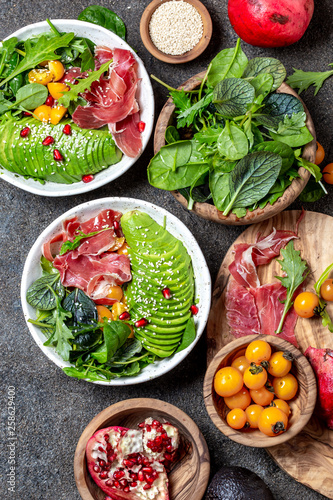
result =
[{"label": "visible white rim of the lower, complete salad bowl, without the food", "polygon": [[[74,217],[75,215],[77,215],[81,220],[87,220],[97,215],[100,210],[106,208],[119,210],[122,213],[138,209],[149,214],[158,224],[161,225],[163,224],[164,217],[166,217],[167,230],[183,242],[189,255],[191,256],[194,269],[195,300],[199,308],[198,314],[194,317],[197,331],[195,341],[187,347],[187,349],[174,354],[170,358],[165,358],[152,365],[148,365],[135,377],[126,377],[105,382],[94,382],[101,385],[118,386],[139,384],[167,373],[188,355],[202,335],[210,310],[211,278],[203,253],[192,233],[170,212],[167,212],[163,208],[157,207],[152,203],[135,200],[133,198],[102,198],[100,200],[88,201],[87,203],[83,203],[82,205],[78,205],[77,207],[68,210],[68,212],[58,217],[42,232],[31,248],[23,269],[21,303],[26,321],[28,321],[29,318],[35,318],[35,310],[27,303],[26,293],[29,286],[42,274],[40,258],[43,243],[61,231],[63,220]],[[63,359],[55,352],[54,348],[43,345],[46,338],[41,333],[39,328],[28,322],[27,325],[35,342],[51,361],[53,361],[60,368],[71,366],[69,362],[63,361]]]}]

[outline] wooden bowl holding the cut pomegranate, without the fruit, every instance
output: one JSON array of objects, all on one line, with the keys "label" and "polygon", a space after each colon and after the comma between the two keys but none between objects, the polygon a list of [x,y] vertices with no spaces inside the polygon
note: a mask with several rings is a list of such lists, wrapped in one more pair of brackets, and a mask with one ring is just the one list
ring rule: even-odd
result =
[{"label": "wooden bowl holding the cut pomegranate, without the fruit", "polygon": [[172,500],[201,499],[206,490],[210,461],[205,438],[186,413],[158,399],[138,398],[120,401],[99,413],[85,428],[74,456],[74,476],[82,500],[104,500],[105,493],[93,482],[86,463],[86,445],[98,430],[111,425],[137,428],[147,417],[175,425],[182,441],[182,453],[169,474]]}]

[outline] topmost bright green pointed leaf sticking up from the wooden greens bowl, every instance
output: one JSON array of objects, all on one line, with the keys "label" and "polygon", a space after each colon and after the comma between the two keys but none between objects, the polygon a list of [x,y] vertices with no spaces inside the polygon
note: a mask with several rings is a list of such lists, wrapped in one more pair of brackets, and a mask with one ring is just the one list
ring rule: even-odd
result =
[{"label": "topmost bright green pointed leaf sticking up from the wooden greens bowl", "polygon": [[240,78],[247,63],[248,59],[241,49],[238,38],[235,48],[224,49],[214,57],[208,70],[207,84],[215,87],[225,78]]}]

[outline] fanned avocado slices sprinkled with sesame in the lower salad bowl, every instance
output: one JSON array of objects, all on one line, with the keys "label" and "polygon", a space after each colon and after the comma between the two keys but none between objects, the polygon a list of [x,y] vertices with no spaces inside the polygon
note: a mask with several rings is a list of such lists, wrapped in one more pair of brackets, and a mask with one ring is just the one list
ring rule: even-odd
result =
[{"label": "fanned avocado slices sprinkled with sesame in the lower salad bowl", "polygon": [[[134,326],[135,337],[149,352],[171,356],[191,317],[191,258],[180,240],[144,212],[125,213],[121,226],[131,260],[132,281],[124,292],[131,320],[148,321],[145,327]],[[170,289],[170,299],[163,296],[164,288]]]}]

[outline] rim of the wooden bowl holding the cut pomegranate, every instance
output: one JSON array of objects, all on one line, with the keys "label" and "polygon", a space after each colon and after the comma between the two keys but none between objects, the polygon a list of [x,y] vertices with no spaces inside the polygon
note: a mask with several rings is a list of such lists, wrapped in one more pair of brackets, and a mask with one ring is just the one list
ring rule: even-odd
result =
[{"label": "rim of the wooden bowl holding the cut pomegranate", "polygon": [[[133,398],[119,401],[98,413],[98,415],[96,415],[85,427],[78,441],[74,455],[74,477],[82,500],[96,500],[99,498],[93,496],[88,484],[88,481],[93,483],[86,463],[85,451],[88,440],[99,429],[109,427],[110,425],[121,425],[121,422],[118,422],[118,424],[115,423],[117,418],[119,420],[125,419],[131,411],[135,414],[140,410],[142,410],[142,413],[145,415],[140,418],[140,421],[142,418],[148,416],[154,417],[160,413],[163,414],[163,418],[166,418],[167,421],[170,421],[174,425],[177,425],[177,422],[179,422],[178,425],[182,425],[187,429],[188,435],[191,436],[193,453],[196,453],[195,460],[198,462],[199,469],[199,473],[195,476],[196,490],[192,498],[193,500],[201,500],[206,491],[210,474],[210,457],[205,438],[197,424],[185,412],[166,401],[153,398]],[[95,485],[95,483],[93,484]],[[95,488],[97,488],[96,485]],[[172,497],[170,497],[170,499],[172,500]]]}]

